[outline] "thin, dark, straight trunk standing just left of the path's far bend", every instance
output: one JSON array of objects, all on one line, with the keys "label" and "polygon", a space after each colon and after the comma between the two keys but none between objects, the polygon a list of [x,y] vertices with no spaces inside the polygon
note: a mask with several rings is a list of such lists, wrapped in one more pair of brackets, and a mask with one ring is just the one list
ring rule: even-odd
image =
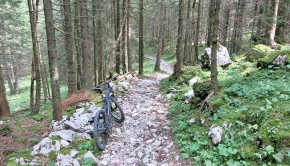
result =
[{"label": "thin, dark, straight trunk standing just left of the path's far bend", "polygon": [[143,43],[143,0],[139,1],[139,74],[143,75],[144,43]]}]

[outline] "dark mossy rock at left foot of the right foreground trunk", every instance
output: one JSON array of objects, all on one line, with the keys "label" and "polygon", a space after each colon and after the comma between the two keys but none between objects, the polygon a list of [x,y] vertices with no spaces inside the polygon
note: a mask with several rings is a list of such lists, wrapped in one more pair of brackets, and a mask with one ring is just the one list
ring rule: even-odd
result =
[{"label": "dark mossy rock at left foot of the right foreground trunk", "polygon": [[194,95],[196,97],[201,98],[202,100],[205,99],[211,90],[211,82],[198,82],[193,86]]}]

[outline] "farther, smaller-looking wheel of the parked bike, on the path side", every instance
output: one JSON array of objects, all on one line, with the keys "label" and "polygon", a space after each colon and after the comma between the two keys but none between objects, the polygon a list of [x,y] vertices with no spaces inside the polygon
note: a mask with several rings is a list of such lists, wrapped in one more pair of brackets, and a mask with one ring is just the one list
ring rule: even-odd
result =
[{"label": "farther, smaller-looking wheel of the parked bike, on the path side", "polygon": [[111,97],[111,115],[118,123],[122,123],[125,120],[124,111],[114,97]]}]

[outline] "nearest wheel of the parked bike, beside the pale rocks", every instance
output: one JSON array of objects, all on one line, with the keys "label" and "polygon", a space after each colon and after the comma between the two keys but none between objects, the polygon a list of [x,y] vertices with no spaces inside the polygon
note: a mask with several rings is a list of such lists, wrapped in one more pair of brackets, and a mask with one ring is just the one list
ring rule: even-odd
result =
[{"label": "nearest wheel of the parked bike, beside the pale rocks", "polygon": [[94,118],[94,140],[99,150],[104,150],[108,143],[109,127],[105,111],[99,110]]}]

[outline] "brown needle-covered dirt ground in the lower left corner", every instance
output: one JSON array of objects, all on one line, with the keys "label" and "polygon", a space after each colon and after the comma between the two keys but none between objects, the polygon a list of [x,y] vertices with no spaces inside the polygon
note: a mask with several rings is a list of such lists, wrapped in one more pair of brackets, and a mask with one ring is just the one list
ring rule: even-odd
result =
[{"label": "brown needle-covered dirt ground in the lower left corner", "polygon": [[48,131],[47,120],[37,122],[32,117],[23,116],[24,113],[12,114],[9,120],[0,124],[0,165],[5,165],[8,155],[33,147]]}]

